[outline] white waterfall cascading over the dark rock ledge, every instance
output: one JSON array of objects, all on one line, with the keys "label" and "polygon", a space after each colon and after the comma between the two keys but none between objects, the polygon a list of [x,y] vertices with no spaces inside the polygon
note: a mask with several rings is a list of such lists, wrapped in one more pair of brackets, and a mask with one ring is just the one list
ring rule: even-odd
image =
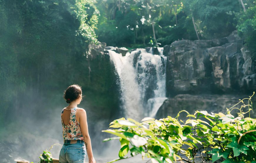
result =
[{"label": "white waterfall cascading over the dark rock ledge", "polygon": [[137,48],[125,56],[109,51],[109,56],[119,76],[122,109],[125,117],[141,120],[154,117],[165,99],[165,68],[167,57],[163,48],[159,55],[144,48]]}]

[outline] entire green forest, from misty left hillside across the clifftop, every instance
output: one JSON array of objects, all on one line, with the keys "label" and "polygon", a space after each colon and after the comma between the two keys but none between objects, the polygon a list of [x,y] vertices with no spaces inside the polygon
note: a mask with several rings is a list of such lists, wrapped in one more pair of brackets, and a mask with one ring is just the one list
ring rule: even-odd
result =
[{"label": "entire green forest, from misty left hillside across the clifftop", "polygon": [[41,115],[62,106],[73,83],[92,108],[89,120],[117,118],[113,65],[93,60],[92,44],[163,47],[237,30],[255,60],[255,10],[253,0],[0,0],[1,139],[13,134],[8,127],[25,125],[22,117],[44,122]]}]

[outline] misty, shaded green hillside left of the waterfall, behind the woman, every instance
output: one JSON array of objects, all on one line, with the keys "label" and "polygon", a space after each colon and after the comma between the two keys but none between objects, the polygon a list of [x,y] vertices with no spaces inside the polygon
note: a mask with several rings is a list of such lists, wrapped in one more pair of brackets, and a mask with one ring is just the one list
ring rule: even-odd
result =
[{"label": "misty, shaded green hillside left of the waterfall, behind the woman", "polygon": [[25,114],[40,119],[52,109],[46,101],[58,108],[64,102],[62,91],[74,83],[88,97],[81,107],[114,115],[110,110],[118,106],[113,67],[103,57],[92,61],[85,56],[96,41],[98,11],[93,3],[0,1],[0,132]]}]

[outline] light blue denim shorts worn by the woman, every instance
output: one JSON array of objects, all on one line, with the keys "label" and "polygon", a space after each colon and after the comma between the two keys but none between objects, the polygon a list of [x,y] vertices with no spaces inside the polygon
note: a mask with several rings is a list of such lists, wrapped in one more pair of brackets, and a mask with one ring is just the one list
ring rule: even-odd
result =
[{"label": "light blue denim shorts worn by the woman", "polygon": [[77,143],[64,143],[59,152],[59,163],[84,163],[86,157],[86,146],[84,141]]}]

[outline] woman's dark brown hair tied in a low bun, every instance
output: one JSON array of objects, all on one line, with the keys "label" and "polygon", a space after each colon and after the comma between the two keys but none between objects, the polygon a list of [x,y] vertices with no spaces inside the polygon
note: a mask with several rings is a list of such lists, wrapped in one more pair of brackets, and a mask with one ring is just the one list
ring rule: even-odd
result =
[{"label": "woman's dark brown hair tied in a low bun", "polygon": [[[82,94],[82,87],[77,84],[70,85],[65,91],[64,91],[64,99],[69,104],[71,101],[76,100],[79,98],[79,95]],[[69,99],[69,100],[67,100]]]}]

